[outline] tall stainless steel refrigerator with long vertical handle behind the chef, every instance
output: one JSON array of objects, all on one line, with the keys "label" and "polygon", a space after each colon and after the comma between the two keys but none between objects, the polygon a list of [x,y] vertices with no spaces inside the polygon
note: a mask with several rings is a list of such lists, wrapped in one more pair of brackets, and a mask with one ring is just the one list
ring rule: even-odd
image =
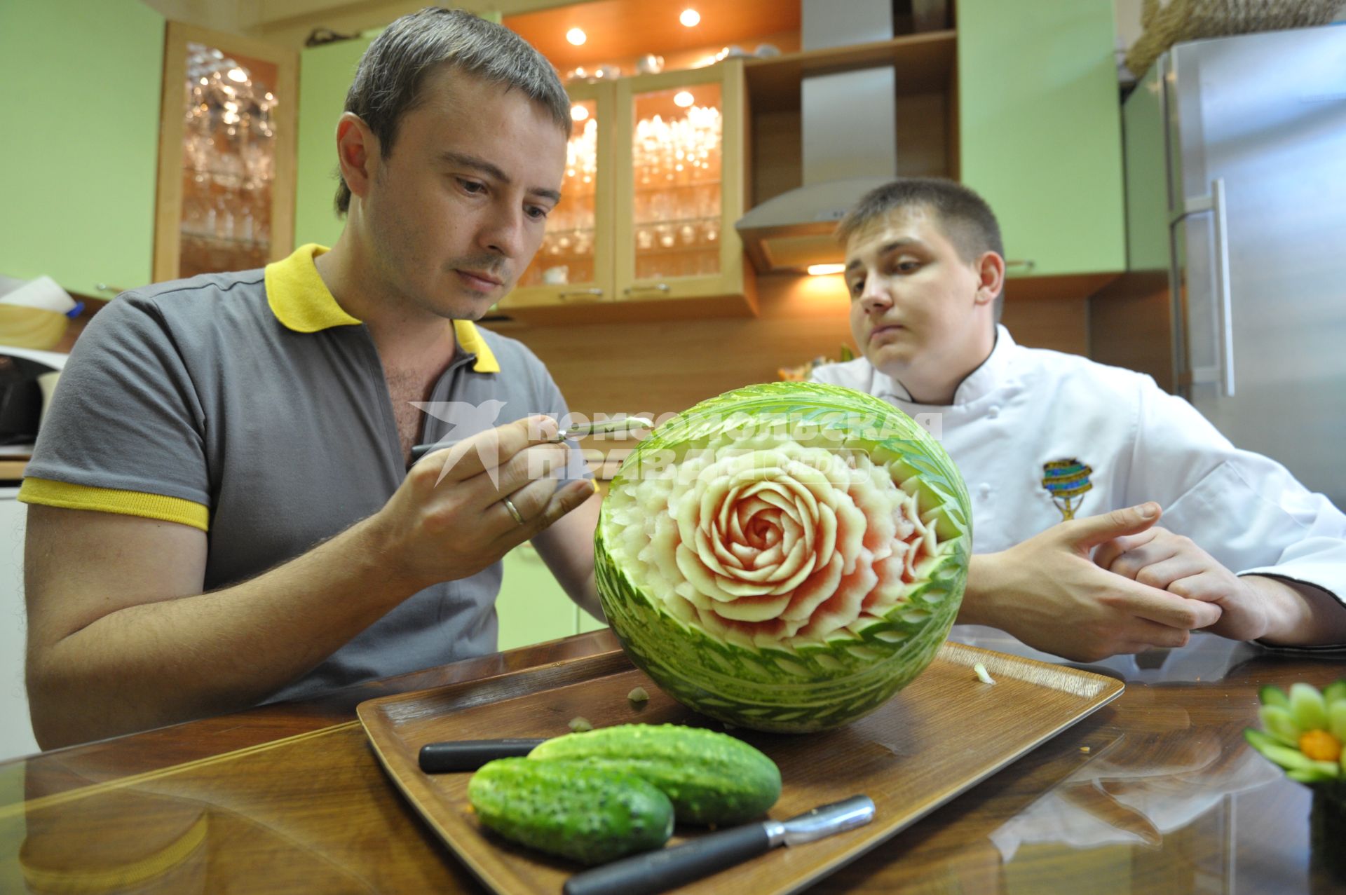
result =
[{"label": "tall stainless steel refrigerator with long vertical handle behind the chef", "polygon": [[1179,44],[1123,116],[1179,393],[1346,507],[1346,26]]}]

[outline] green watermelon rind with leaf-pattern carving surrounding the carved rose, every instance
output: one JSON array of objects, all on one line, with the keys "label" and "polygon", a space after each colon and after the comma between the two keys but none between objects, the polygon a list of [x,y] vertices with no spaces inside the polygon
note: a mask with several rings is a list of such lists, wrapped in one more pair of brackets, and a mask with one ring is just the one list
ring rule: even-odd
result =
[{"label": "green watermelon rind with leaf-pattern carving surrounding the carved rose", "polygon": [[[813,402],[813,404],[810,404]],[[922,518],[934,521],[940,540],[923,560],[927,577],[914,583],[906,600],[882,620],[856,623],[825,643],[746,646],[727,643],[676,619],[645,585],[635,584],[608,550],[618,542],[610,501],[595,533],[595,575],[612,631],[637,666],[674,699],[721,721],[774,732],[826,729],[861,717],[914,680],[934,658],[958,614],[966,585],[972,544],[966,487],[944,448],[919,425],[883,401],[821,384],[767,384],[704,401],[660,427],[622,464],[611,493],[637,478],[642,458],[656,451],[684,456],[707,447],[723,431],[720,410],[743,419],[787,413],[793,420],[821,420],[836,429],[847,448],[864,450],[890,464],[919,491]],[[895,431],[894,437],[852,437],[851,428],[828,416],[868,413]],[[870,435],[870,432],[865,432]],[[611,499],[611,498],[610,498]],[[700,661],[688,661],[696,654]]]}]

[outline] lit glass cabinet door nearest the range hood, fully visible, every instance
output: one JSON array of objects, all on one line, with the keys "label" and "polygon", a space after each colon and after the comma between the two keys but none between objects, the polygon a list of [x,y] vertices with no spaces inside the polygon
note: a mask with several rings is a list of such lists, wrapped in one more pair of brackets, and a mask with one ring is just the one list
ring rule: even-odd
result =
[{"label": "lit glass cabinet door nearest the range hood, fully visible", "polygon": [[621,300],[743,291],[743,67],[618,82]]}]

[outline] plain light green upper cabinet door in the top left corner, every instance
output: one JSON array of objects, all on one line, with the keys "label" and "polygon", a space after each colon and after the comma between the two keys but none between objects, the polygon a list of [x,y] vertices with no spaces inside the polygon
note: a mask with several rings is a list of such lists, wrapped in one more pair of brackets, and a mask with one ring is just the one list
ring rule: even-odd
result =
[{"label": "plain light green upper cabinet door in the top left corner", "polygon": [[148,283],[164,17],[140,0],[0,3],[0,273]]}]

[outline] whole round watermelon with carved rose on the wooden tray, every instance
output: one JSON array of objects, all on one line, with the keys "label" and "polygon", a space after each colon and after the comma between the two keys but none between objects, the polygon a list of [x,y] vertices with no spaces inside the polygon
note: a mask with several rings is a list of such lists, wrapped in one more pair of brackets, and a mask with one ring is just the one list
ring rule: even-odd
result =
[{"label": "whole round watermelon with carved rose on the wooden tray", "polygon": [[773,382],[697,404],[626,458],[595,569],[612,631],[665,692],[806,732],[925,670],[970,546],[962,478],[914,420],[852,389]]}]

